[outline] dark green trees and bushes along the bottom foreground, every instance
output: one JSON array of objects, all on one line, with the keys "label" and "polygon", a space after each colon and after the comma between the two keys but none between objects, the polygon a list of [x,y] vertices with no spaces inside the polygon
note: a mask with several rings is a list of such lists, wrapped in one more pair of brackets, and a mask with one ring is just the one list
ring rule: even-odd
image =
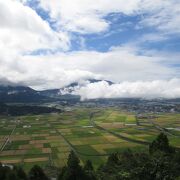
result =
[{"label": "dark green trees and bushes along the bottom foreground", "polygon": [[[113,153],[105,164],[94,170],[91,161],[81,166],[72,151],[67,166],[58,171],[58,180],[178,180],[180,151],[169,145],[161,133],[149,146],[149,153]],[[35,165],[28,174],[21,167],[0,165],[0,180],[48,180],[47,172]]]}]

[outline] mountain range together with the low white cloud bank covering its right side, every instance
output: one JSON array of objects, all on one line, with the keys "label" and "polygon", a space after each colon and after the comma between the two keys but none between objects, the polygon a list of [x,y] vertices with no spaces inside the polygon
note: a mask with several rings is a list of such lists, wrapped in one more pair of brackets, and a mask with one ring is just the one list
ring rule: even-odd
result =
[{"label": "mountain range together with the low white cloud bank covering its right side", "polygon": [[63,88],[36,91],[24,86],[0,86],[1,102],[45,102],[89,99],[175,99],[180,98],[180,79],[113,83],[89,79]]}]

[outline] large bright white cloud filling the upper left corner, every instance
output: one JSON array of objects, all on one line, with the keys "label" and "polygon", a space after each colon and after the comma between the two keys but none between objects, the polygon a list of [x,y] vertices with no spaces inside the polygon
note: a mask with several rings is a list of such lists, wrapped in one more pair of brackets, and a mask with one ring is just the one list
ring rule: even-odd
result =
[{"label": "large bright white cloud filling the upper left corner", "polygon": [[69,48],[66,33],[53,31],[28,6],[0,0],[0,51],[26,53],[38,49]]}]

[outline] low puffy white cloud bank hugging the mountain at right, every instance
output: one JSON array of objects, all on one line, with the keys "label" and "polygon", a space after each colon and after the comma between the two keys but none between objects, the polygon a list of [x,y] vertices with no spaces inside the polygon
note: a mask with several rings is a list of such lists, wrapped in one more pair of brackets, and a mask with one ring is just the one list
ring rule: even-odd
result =
[{"label": "low puffy white cloud bank hugging the mountain at right", "polygon": [[72,94],[81,100],[97,98],[179,98],[180,79],[122,82],[110,85],[106,81],[76,87]]}]

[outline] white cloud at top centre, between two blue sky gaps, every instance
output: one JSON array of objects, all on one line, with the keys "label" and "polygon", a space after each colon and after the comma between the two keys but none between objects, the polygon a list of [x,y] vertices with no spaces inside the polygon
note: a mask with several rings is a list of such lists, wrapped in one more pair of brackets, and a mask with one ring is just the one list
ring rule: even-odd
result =
[{"label": "white cloud at top centre, between two blue sky gaps", "polygon": [[109,13],[130,15],[138,9],[141,0],[39,0],[40,6],[50,12],[58,27],[80,33],[99,33],[109,28],[104,17]]}]

